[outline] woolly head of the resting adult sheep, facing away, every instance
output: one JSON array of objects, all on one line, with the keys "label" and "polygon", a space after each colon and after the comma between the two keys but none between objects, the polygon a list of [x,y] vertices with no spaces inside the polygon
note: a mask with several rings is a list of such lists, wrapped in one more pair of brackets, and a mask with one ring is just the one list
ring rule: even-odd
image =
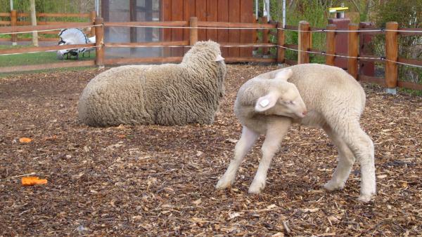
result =
[{"label": "woolly head of the resting adult sheep, facing away", "polygon": [[183,58],[183,62],[191,62],[196,60],[206,60],[208,62],[224,62],[219,43],[214,41],[198,41],[188,50]]}]

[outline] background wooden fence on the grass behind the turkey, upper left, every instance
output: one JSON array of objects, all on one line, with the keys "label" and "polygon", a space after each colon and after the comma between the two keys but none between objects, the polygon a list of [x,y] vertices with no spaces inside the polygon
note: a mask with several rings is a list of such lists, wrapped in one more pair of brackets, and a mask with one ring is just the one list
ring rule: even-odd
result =
[{"label": "background wooden fence on the grass behind the turkey, upper left", "polygon": [[[91,11],[90,13],[37,13],[37,25],[65,25],[69,22],[49,20],[49,18],[80,18],[84,22],[94,22],[96,18],[96,12]],[[7,25],[11,27],[31,25],[30,21],[25,18],[30,17],[30,13],[18,13],[13,10],[10,13],[0,13],[0,17],[9,18],[9,20],[0,20],[0,25]],[[39,41],[58,41],[57,34],[59,31],[39,32],[41,35]],[[51,36],[55,34],[55,36]],[[94,36],[94,28],[86,31],[85,34]],[[50,35],[50,36],[48,36]],[[32,38],[18,38],[17,34],[11,34],[11,38],[0,38],[0,41],[11,41],[16,43],[17,41],[31,41]]]}]

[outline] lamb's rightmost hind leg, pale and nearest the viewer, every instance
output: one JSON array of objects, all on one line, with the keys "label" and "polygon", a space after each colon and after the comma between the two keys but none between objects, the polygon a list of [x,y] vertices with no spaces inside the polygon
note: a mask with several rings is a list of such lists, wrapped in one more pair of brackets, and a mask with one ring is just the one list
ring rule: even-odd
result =
[{"label": "lamb's rightmost hind leg, pale and nearest the viewer", "polygon": [[358,121],[350,121],[347,126],[335,129],[361,165],[362,183],[358,199],[362,202],[368,202],[376,194],[373,142],[359,126]]}]

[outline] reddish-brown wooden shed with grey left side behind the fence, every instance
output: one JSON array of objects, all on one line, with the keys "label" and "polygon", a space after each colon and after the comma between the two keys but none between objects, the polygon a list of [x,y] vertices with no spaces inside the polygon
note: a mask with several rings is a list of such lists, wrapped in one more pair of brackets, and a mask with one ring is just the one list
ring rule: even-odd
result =
[{"label": "reddish-brown wooden shed with grey left side behind the fence", "polygon": [[[255,22],[253,0],[101,0],[101,15],[115,21],[188,21],[195,16],[208,22]],[[112,32],[110,32],[110,30]],[[182,41],[189,39],[189,29],[136,28],[110,29],[106,41],[123,38],[129,42]],[[252,43],[253,29],[199,29],[198,40],[219,43]],[[122,41],[122,39],[120,39]],[[136,49],[145,50],[145,49]],[[157,51],[157,49],[154,49]],[[186,48],[160,50],[162,56],[181,56]],[[134,50],[132,49],[132,52]],[[151,53],[151,52],[150,52]],[[225,57],[252,56],[252,48],[222,48]],[[149,54],[149,53],[148,53]],[[154,55],[157,52],[153,53]]]}]

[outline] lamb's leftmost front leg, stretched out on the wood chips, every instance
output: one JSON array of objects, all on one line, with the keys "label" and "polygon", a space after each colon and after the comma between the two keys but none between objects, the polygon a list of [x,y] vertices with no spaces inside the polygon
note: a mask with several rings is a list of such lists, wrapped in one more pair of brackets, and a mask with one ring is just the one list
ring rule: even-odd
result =
[{"label": "lamb's leftmost front leg, stretched out on the wood chips", "polygon": [[229,168],[227,168],[226,172],[224,172],[223,177],[217,182],[217,185],[215,186],[217,189],[225,189],[234,183],[239,165],[241,165],[243,157],[245,157],[248,151],[252,148],[252,145],[257,140],[258,135],[259,134],[250,130],[246,126],[243,126],[241,139],[238,140],[236,147],[234,148],[234,158],[230,161]]}]

